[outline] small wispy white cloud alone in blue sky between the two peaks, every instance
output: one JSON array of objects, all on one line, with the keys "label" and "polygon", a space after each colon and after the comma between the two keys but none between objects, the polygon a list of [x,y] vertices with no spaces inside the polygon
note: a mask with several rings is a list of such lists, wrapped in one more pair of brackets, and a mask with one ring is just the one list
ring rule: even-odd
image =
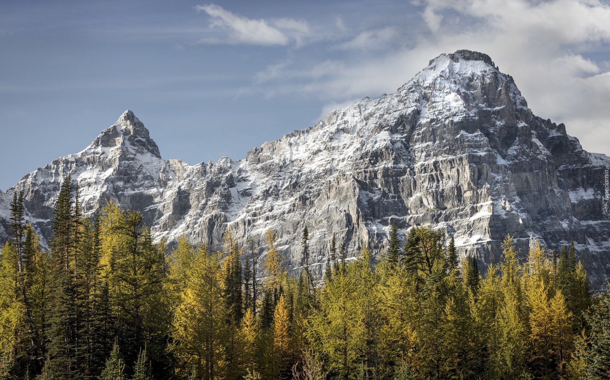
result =
[{"label": "small wispy white cloud alone in blue sky between the two peaks", "polygon": [[197,5],[195,9],[203,10],[212,18],[210,27],[221,27],[228,32],[224,38],[206,37],[200,43],[272,46],[287,45],[290,38],[294,38],[297,45],[300,45],[303,36],[309,34],[307,22],[293,18],[251,20],[216,4]]}]

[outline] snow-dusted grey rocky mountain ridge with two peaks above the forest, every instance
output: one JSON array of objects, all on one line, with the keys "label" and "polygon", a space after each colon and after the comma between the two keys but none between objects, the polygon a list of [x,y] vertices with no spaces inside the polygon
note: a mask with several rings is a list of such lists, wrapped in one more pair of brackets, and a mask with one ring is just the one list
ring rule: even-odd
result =
[{"label": "snow-dusted grey rocky mountain ridge with two peaks above the forest", "polygon": [[304,226],[321,273],[332,234],[356,256],[362,246],[384,248],[396,220],[401,233],[434,224],[483,265],[500,260],[506,234],[522,251],[531,237],[550,248],[574,239],[600,285],[610,274],[601,200],[608,164],[563,124],[534,116],[489,56],[461,50],[431,60],[392,95],[335,110],[238,161],[163,160],[127,110],[84,151],[0,193],[0,235],[13,192],[23,190],[30,220],[48,238],[60,182],[71,173],[88,212],[112,199],[140,210],[157,239],[185,235],[220,248],[231,229],[262,245],[271,228],[291,270],[301,266]]}]

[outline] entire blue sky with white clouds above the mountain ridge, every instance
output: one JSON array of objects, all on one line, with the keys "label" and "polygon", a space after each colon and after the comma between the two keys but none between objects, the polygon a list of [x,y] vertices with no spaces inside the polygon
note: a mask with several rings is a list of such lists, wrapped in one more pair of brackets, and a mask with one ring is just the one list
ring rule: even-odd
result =
[{"label": "entire blue sky with white clouds above the mountain ridge", "polygon": [[607,1],[3,0],[0,188],[126,109],[165,159],[240,159],[457,49],[489,54],[536,115],[610,154]]}]

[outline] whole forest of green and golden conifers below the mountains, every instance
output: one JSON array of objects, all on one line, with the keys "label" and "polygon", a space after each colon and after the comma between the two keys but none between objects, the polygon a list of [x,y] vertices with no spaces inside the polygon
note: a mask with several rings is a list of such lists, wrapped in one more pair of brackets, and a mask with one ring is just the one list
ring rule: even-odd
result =
[{"label": "whole forest of green and golden conifers below the mountains", "polygon": [[0,379],[610,379],[610,293],[575,246],[534,243],[481,276],[452,237],[394,224],[386,251],[346,259],[333,235],[323,278],[301,235],[287,273],[228,232],[223,251],[155,243],[140,213],[81,212],[70,176],[42,249],[11,205],[0,256]]}]

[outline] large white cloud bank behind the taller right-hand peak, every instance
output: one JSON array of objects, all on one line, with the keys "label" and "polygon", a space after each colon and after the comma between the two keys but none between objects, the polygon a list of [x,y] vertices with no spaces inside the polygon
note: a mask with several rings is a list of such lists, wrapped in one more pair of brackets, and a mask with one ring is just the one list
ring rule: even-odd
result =
[{"label": "large white cloud bank behind the taller right-hand peak", "polygon": [[387,48],[312,68],[287,64],[266,71],[264,81],[299,78],[293,91],[333,107],[395,91],[442,52],[481,51],[515,78],[536,115],[565,123],[585,149],[610,153],[610,66],[587,58],[610,44],[610,5],[598,0],[428,0],[421,5],[429,30],[413,34],[417,40],[409,48],[401,47],[401,34],[392,34],[392,26],[368,30],[339,47],[368,50],[385,43]]}]

